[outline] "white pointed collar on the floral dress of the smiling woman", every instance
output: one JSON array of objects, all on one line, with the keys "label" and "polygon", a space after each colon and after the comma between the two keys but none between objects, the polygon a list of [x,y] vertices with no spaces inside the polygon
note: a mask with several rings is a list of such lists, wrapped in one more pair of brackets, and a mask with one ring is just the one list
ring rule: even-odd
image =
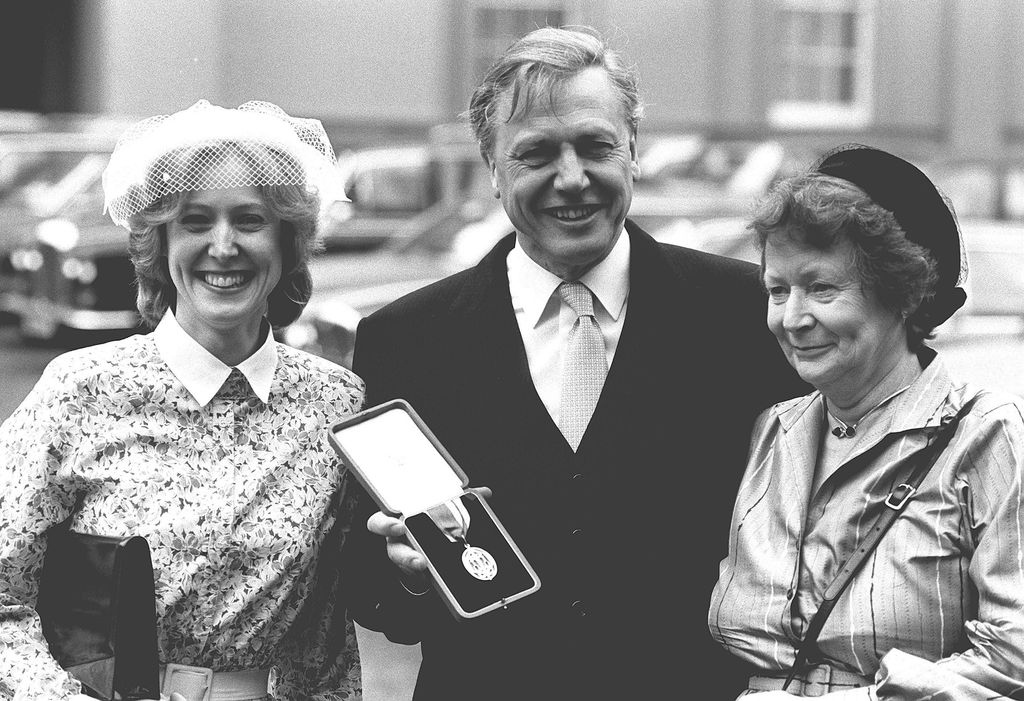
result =
[{"label": "white pointed collar on the floral dress of the smiling woman", "polygon": [[[193,395],[200,406],[206,406],[223,386],[231,367],[190,337],[174,318],[170,309],[153,332],[160,356],[174,377]],[[255,353],[238,364],[253,392],[264,403],[270,398],[270,384],[278,366],[278,343],[267,330],[266,340]]]}]

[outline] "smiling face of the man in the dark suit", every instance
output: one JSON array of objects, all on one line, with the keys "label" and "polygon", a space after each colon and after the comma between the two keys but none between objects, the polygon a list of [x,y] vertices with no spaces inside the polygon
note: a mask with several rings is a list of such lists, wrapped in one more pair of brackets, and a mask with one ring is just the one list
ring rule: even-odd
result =
[{"label": "smiling face of the man in the dark suit", "polygon": [[483,152],[492,184],[522,252],[558,278],[577,280],[623,232],[640,174],[636,132],[603,68],[553,84],[550,99],[517,103],[513,95],[495,103],[502,128]]}]

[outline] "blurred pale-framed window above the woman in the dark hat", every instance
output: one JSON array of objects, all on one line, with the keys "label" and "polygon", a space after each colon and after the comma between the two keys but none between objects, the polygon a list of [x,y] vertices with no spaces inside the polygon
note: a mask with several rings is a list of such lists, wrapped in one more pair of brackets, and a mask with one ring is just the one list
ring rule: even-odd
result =
[{"label": "blurred pale-framed window above the woman in the dark hat", "polygon": [[773,126],[858,128],[871,118],[873,0],[778,0]]}]

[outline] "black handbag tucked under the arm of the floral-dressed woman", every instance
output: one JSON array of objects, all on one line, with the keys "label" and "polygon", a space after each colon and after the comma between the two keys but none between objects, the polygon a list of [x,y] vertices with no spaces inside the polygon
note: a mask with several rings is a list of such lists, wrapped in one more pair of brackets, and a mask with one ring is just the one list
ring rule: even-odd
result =
[{"label": "black handbag tucked under the arm of the floral-dressed woman", "polygon": [[50,529],[36,610],[56,661],[97,699],[159,699],[153,561],[145,538]]}]

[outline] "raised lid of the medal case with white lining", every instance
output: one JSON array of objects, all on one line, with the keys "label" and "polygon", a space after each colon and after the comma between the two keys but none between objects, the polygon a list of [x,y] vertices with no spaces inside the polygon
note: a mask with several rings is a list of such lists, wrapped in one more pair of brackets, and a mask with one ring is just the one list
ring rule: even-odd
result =
[{"label": "raised lid of the medal case with white lining", "polygon": [[469,479],[402,399],[331,427],[331,444],[377,505],[393,516],[457,498]]}]

